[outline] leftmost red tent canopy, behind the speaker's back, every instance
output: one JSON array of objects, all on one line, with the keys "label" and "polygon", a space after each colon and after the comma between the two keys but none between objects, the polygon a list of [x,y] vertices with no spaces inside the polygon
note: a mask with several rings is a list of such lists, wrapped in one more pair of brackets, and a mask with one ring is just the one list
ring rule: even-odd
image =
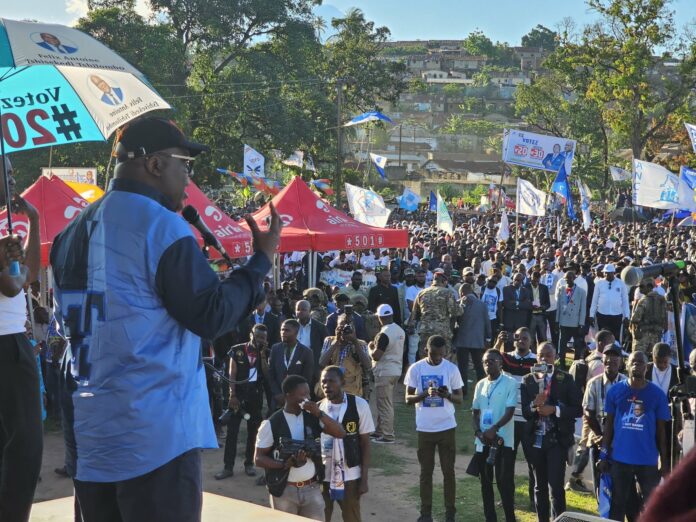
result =
[{"label": "leftmost red tent canopy, behind the speaker's back", "polygon": [[[53,239],[89,203],[68,187],[57,176],[41,176],[36,183],[22,193],[22,197],[39,211],[39,236],[41,238],[41,265],[48,266],[48,254]],[[22,238],[29,232],[26,216],[12,215],[14,232]],[[0,235],[7,235],[7,211],[0,213]]]}]

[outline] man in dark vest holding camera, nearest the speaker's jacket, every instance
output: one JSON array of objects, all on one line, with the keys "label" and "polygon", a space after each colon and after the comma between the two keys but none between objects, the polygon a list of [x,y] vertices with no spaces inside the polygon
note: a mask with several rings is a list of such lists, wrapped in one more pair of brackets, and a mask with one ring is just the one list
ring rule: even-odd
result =
[{"label": "man in dark vest holding camera, nearest the speaker's jacket", "polygon": [[244,473],[249,477],[256,475],[254,470],[254,441],[263,419],[263,383],[268,375],[266,352],[268,351],[268,329],[264,324],[255,324],[251,329],[248,343],[233,346],[230,357],[230,400],[223,419],[227,420],[225,440],[225,468],[215,475],[216,480],[234,475],[234,461],[237,457],[237,436],[242,419],[247,421],[247,442],[244,453]]}]

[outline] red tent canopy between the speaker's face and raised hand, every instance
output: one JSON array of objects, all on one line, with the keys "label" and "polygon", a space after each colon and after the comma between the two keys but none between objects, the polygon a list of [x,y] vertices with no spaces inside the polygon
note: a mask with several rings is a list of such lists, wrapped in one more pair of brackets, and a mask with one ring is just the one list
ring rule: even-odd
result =
[{"label": "red tent canopy between the speaker's face and raised hand", "polygon": [[[243,257],[253,253],[252,237],[248,229],[242,230],[236,221],[216,207],[193,182],[186,187],[186,194],[188,194],[186,204],[198,211],[203,222],[215,234],[230,257]],[[194,227],[191,229],[198,243],[203,245],[201,235]],[[210,253],[213,257],[220,257],[214,249],[211,249]]]}]

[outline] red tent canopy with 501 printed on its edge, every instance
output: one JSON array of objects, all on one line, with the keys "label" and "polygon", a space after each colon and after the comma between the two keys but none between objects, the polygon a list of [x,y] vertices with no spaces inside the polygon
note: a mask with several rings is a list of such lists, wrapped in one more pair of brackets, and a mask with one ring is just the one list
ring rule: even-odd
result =
[{"label": "red tent canopy with 501 printed on its edge", "polygon": [[[292,180],[271,201],[283,221],[279,252],[408,246],[407,230],[360,223],[324,202],[300,177]],[[270,213],[269,206],[265,205],[253,218],[259,226],[266,227]],[[246,223],[240,226],[248,230]]]}]

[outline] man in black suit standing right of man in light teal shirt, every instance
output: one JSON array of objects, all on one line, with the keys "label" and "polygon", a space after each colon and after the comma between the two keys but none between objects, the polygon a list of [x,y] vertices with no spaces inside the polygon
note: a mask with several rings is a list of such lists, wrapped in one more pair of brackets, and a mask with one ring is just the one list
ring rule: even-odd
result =
[{"label": "man in black suit standing right of man in light teal shirt", "polygon": [[544,342],[537,350],[546,373],[530,373],[522,380],[525,438],[535,479],[537,520],[549,521],[549,489],[553,518],[566,510],[565,479],[568,449],[575,443],[575,419],[582,415],[582,397],[570,374],[554,367],[556,349]]}]

